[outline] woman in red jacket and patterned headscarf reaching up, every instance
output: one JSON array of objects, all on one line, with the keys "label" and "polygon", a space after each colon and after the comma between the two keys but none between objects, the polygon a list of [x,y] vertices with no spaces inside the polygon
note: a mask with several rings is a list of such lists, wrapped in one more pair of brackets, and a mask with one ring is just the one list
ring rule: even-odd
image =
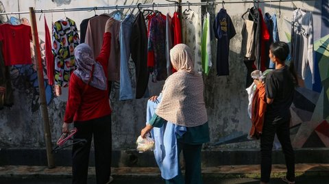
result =
[{"label": "woman in red jacket and patterned headscarf reaching up", "polygon": [[94,137],[97,184],[110,183],[111,174],[111,109],[108,101],[107,68],[110,56],[110,25],[106,23],[101,53],[93,60],[88,44],[79,44],[74,51],[77,69],[71,75],[69,98],[66,103],[63,132],[69,132],[74,122],[74,139],[85,139],[86,144],[74,144],[73,183],[86,183],[90,144]]}]

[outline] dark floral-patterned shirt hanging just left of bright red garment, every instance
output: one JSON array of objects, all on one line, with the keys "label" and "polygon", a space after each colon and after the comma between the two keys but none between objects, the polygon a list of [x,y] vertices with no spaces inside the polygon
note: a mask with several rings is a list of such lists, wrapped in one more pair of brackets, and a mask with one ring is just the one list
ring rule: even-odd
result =
[{"label": "dark floral-patterned shirt hanging just left of bright red garment", "polygon": [[162,81],[167,79],[166,18],[160,13],[156,14],[156,16],[151,19],[147,51],[154,53],[153,66],[151,63],[147,64],[147,66],[154,70],[152,81]]}]

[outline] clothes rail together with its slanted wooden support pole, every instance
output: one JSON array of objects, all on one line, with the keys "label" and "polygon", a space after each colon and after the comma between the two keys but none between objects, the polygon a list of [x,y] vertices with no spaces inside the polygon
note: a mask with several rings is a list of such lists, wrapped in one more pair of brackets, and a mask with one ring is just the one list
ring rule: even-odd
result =
[{"label": "clothes rail together with its slanted wooden support pole", "polygon": [[[48,168],[54,168],[54,160],[53,160],[53,153],[52,150],[52,143],[51,143],[51,131],[49,125],[49,116],[47,110],[47,103],[45,97],[45,81],[43,78],[42,72],[42,60],[41,60],[41,53],[40,53],[40,43],[38,38],[38,27],[36,24],[36,14],[42,14],[47,12],[81,12],[81,11],[93,11],[93,10],[119,10],[125,8],[153,8],[156,7],[172,7],[178,6],[178,12],[180,14],[180,20],[182,19],[182,6],[191,6],[191,5],[218,5],[218,4],[234,4],[234,3],[283,3],[283,2],[293,2],[293,1],[302,1],[302,0],[264,0],[264,1],[206,1],[201,3],[182,3],[182,0],[172,1],[166,0],[168,3],[152,3],[152,4],[142,4],[138,3],[138,5],[115,5],[115,6],[103,6],[103,7],[88,7],[88,8],[54,8],[54,9],[44,9],[44,10],[34,10],[33,7],[29,8],[29,12],[4,12],[0,13],[0,15],[10,15],[10,14],[29,14],[30,21],[31,21],[31,28],[32,28],[32,38],[33,38],[33,45],[34,45],[34,53],[36,58],[36,71],[38,73],[38,84],[39,84],[39,94],[40,94],[40,111],[41,116],[44,124],[44,135],[45,135],[45,144],[47,150],[47,161],[48,161]],[[304,1],[314,1],[314,0],[303,0]]]}]

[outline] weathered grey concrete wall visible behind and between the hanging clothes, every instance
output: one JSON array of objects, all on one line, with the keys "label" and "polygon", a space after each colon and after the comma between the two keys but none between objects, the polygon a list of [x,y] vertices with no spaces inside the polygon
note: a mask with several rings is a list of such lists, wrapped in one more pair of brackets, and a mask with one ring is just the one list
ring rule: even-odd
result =
[{"label": "weathered grey concrete wall visible behind and between the hanging clothes", "polygon": [[[85,1],[85,0],[47,0],[47,1],[1,1],[5,12],[28,11],[28,7],[39,9],[49,8],[77,8],[77,7],[94,7],[104,5],[123,5],[136,3],[166,3],[166,1]],[[190,1],[193,2],[193,1]],[[319,3],[319,1],[317,1]],[[260,8],[263,12],[279,12],[278,3],[260,3]],[[308,11],[312,11],[315,17],[315,26],[319,26],[321,22],[321,12],[315,8],[316,1],[296,2],[297,7],[304,7]],[[243,59],[240,55],[241,50],[241,29],[243,19],[241,14],[252,7],[252,3],[240,3],[225,5],[228,14],[230,14],[236,36],[232,38],[230,44],[230,76],[217,77],[215,66],[210,70],[210,75],[204,77],[205,81],[205,101],[209,117],[210,126],[210,143],[206,144],[206,148],[211,149],[226,149],[226,148],[258,148],[258,141],[247,140],[247,134],[251,127],[251,122],[247,116],[247,92],[245,92],[245,75],[246,68],[243,64]],[[200,12],[199,7],[191,6],[196,12]],[[221,5],[215,7],[215,12],[218,12]],[[173,8],[158,8],[162,12],[173,12]],[[208,8],[210,10],[210,8]],[[0,9],[1,10],[1,9]],[[184,10],[184,8],[183,8]],[[126,12],[127,10],[124,10]],[[203,10],[204,11],[204,10]],[[103,12],[110,13],[112,10],[97,10],[97,14]],[[135,13],[137,11],[135,10]],[[212,12],[212,15],[215,15]],[[286,20],[291,20],[292,3],[281,3],[281,16],[278,19],[278,27],[280,40],[289,42],[290,25]],[[77,25],[80,25],[84,18],[93,16],[92,12],[56,12],[46,13],[48,25],[65,16],[73,19]],[[27,18],[28,14],[11,14],[4,19],[9,19],[10,16],[17,18]],[[37,15],[39,18],[40,14]],[[43,16],[43,15],[42,15]],[[43,18],[38,20],[38,33],[40,42],[44,40],[44,21]],[[328,33],[327,33],[328,34]],[[317,39],[321,38],[320,34]],[[42,45],[41,45],[42,47]],[[212,60],[216,60],[216,40],[212,40]],[[43,51],[43,48],[41,48]],[[328,66],[328,65],[326,65]],[[327,68],[328,70],[328,68]],[[40,115],[38,101],[38,83],[36,80],[35,66],[22,68],[21,66],[13,66],[12,70],[12,86],[14,87],[14,105],[5,107],[0,110],[0,148],[45,148],[43,136],[43,122]],[[45,79],[47,82],[47,79]],[[293,123],[291,137],[295,147],[328,147],[328,134],[319,129],[319,125],[328,127],[326,122],[329,114],[318,114],[315,111],[324,111],[328,109],[328,96],[324,91],[328,86],[324,86],[320,92],[315,92],[312,86],[307,85],[300,88],[300,94],[304,94],[304,101],[308,100],[315,106],[313,109],[305,110],[300,107],[293,107]],[[162,88],[163,82],[149,83],[150,94],[158,94]],[[61,134],[62,118],[67,100],[67,89],[63,88],[62,96],[56,97],[53,95],[52,87],[46,84],[47,103],[49,111],[49,120],[51,124],[52,141],[55,144]],[[147,98],[131,101],[119,101],[118,83],[114,83],[114,90],[111,93],[112,105],[112,140],[114,150],[125,150],[135,148],[136,137],[141,132],[141,128],[145,124],[146,103]],[[301,95],[303,96],[303,95]],[[306,96],[306,97],[305,97]],[[312,96],[310,100],[309,96]],[[321,97],[322,96],[322,97]],[[320,98],[321,97],[321,98]],[[324,102],[326,104],[324,105]],[[305,116],[300,116],[300,115]]]}]

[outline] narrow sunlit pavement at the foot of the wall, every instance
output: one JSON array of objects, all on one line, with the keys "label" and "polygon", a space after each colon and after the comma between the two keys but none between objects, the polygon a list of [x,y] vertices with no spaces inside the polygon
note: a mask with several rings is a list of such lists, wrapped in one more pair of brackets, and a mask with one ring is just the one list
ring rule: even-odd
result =
[{"label": "narrow sunlit pavement at the foot of the wall", "polygon": [[[184,172],[184,170],[183,170]],[[278,179],[285,176],[284,165],[272,165],[271,178]],[[47,168],[47,166],[0,166],[0,179],[56,179],[71,178],[71,167]],[[218,166],[202,168],[204,179],[259,179],[259,165]],[[321,163],[298,163],[295,164],[297,177],[327,177],[329,176],[329,164]],[[90,167],[88,175],[95,178],[95,167]],[[121,167],[112,168],[112,176],[116,179],[158,179],[160,170],[158,168]],[[329,181],[328,181],[329,183]]]}]

